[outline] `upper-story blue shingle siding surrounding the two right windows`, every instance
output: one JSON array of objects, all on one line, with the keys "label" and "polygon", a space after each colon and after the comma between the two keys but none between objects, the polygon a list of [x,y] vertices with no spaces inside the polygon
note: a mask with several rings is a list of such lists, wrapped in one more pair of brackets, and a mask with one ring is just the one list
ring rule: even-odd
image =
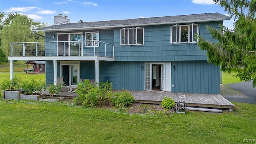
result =
[{"label": "upper-story blue shingle siding surrounding the two right windows", "polygon": [[[206,25],[218,29],[218,22],[200,22],[200,36],[216,41],[206,30]],[[178,24],[183,25],[183,24]],[[207,60],[206,51],[197,43],[171,44],[171,25],[144,26],[144,44],[120,46],[120,28],[115,28],[114,44],[116,61],[187,61]],[[140,26],[143,27],[143,26]]]}]

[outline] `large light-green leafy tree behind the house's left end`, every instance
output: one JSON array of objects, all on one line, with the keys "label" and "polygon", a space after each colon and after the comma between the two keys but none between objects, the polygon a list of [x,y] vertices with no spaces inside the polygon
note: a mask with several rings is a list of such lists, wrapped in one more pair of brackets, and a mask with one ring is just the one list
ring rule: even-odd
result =
[{"label": "large light-green leafy tree behind the house's left end", "polygon": [[[44,27],[46,24],[35,22],[27,15],[9,13],[1,25],[1,50],[6,56],[10,56],[10,42],[44,41],[44,38],[34,34],[32,29]],[[44,33],[40,32],[40,35]]]}]

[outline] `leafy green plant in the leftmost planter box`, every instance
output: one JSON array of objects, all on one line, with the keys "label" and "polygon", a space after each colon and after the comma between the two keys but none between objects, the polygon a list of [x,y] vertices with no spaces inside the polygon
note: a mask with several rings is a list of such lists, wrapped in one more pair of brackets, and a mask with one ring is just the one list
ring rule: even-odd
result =
[{"label": "leafy green plant in the leftmost planter box", "polygon": [[21,78],[17,78],[17,76],[14,76],[12,80],[4,80],[1,82],[0,89],[1,90],[20,90],[22,84]]}]

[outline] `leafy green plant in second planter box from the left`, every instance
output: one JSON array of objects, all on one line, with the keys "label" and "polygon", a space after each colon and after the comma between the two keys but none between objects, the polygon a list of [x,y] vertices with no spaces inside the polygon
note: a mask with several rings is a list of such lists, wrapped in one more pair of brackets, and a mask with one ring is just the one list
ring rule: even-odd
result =
[{"label": "leafy green plant in second planter box from the left", "polygon": [[46,83],[44,80],[26,80],[22,82],[22,89],[25,90],[25,94],[39,94],[43,89],[46,89]]}]

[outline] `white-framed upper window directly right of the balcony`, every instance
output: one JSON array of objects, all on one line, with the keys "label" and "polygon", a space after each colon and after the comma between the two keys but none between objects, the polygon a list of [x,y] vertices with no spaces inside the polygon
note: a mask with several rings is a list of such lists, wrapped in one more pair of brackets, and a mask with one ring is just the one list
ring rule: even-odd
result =
[{"label": "white-framed upper window directly right of the balcony", "polygon": [[144,44],[144,28],[120,29],[120,45]]}]

